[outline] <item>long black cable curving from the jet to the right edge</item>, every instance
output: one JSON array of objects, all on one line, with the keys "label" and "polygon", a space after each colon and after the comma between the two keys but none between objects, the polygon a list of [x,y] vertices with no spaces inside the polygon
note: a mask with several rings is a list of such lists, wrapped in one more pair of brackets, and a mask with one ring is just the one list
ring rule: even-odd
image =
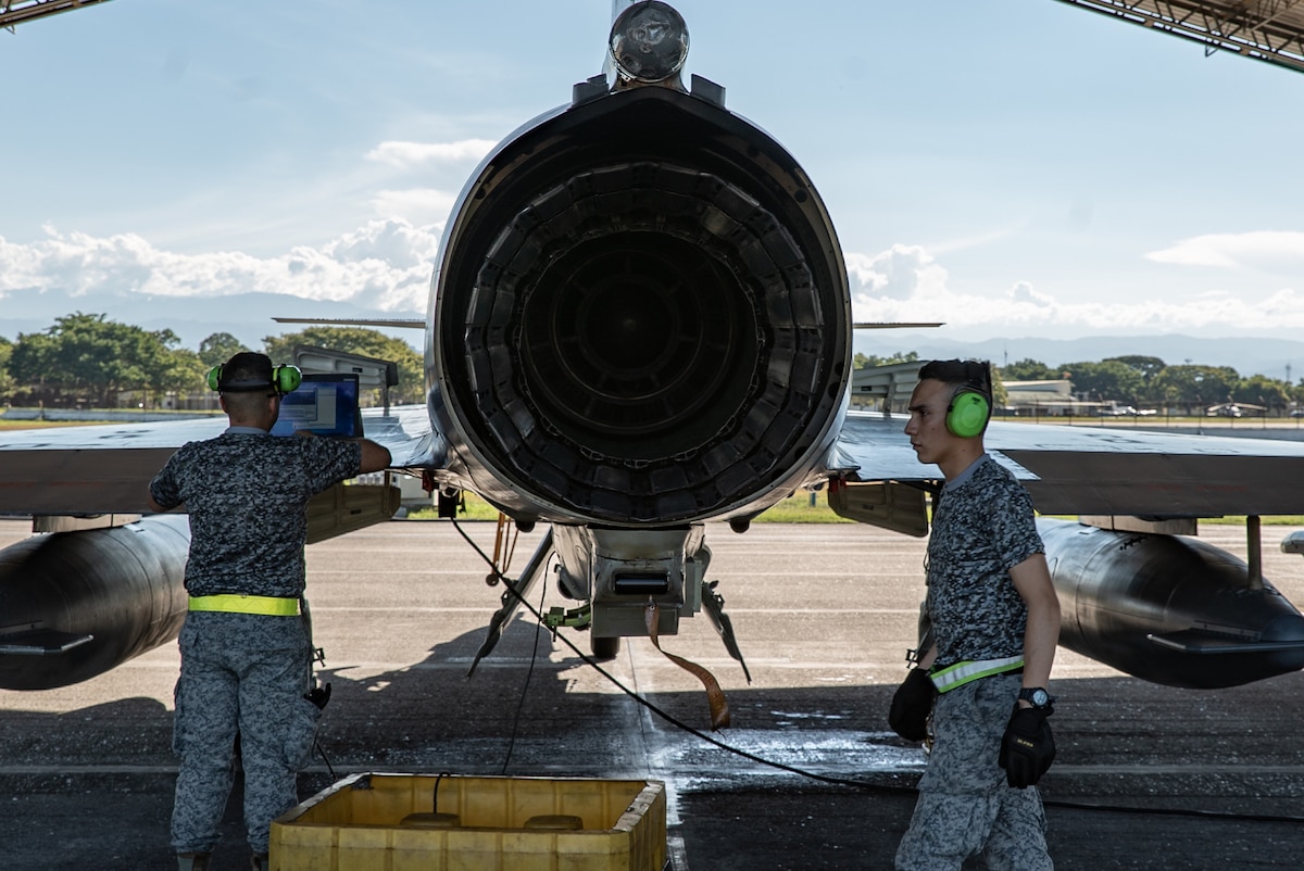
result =
[{"label": "long black cable curving from the jet to the right edge", "polygon": [[[539,623],[541,626],[544,623],[544,615],[539,610],[536,610],[533,605],[531,605],[528,601],[526,601],[526,598],[519,592],[516,592],[516,588],[511,583],[511,580],[506,575],[503,575],[501,571],[498,571],[498,567],[493,565],[493,561],[485,554],[485,552],[480,548],[480,545],[477,545],[471,539],[471,536],[468,536],[466,533],[466,531],[458,524],[456,518],[452,518],[452,527],[466,540],[466,542],[468,545],[471,545],[471,548],[476,553],[480,554],[480,558],[485,561],[485,563],[489,566],[490,571],[493,571],[498,576],[498,580],[503,582],[503,584],[507,587],[507,589],[511,591],[511,595],[516,597],[516,601],[520,602],[520,605],[524,606],[531,614],[533,614],[535,618],[539,621]],[[651,711],[656,716],[661,717],[662,720],[665,720],[672,726],[674,726],[674,728],[677,728],[677,729],[679,729],[682,731],[686,731],[690,735],[694,735],[695,738],[700,738],[702,741],[707,742],[708,745],[719,747],[720,750],[724,750],[725,752],[733,754],[735,756],[742,756],[743,759],[747,759],[750,761],[758,763],[760,765],[767,765],[769,768],[776,768],[778,771],[785,771],[785,772],[788,772],[790,775],[797,775],[798,777],[806,777],[808,780],[814,780],[814,781],[818,781],[818,782],[822,782],[822,784],[829,784],[832,786],[850,786],[853,789],[859,789],[859,790],[866,790],[866,791],[874,791],[874,793],[885,793],[885,794],[889,794],[889,795],[904,795],[904,794],[915,795],[919,791],[914,786],[889,786],[889,785],[885,785],[885,784],[870,784],[867,781],[849,780],[849,778],[845,778],[845,777],[829,777],[827,775],[816,775],[815,772],[810,772],[810,771],[805,771],[802,768],[795,768],[793,765],[786,765],[784,763],[773,761],[771,759],[765,759],[763,756],[758,756],[755,754],[747,752],[746,750],[739,750],[738,747],[733,747],[730,745],[726,745],[722,741],[712,738],[707,733],[704,733],[704,731],[702,731],[699,729],[695,729],[695,728],[690,726],[689,724],[686,724],[686,722],[675,718],[670,713],[662,711],[657,705],[652,704],[651,701],[648,701],[647,699],[644,699],[639,694],[636,694],[632,690],[630,690],[629,687],[626,687],[613,674],[610,674],[606,669],[604,669],[595,660],[592,660],[589,656],[587,656],[585,653],[583,653],[578,647],[575,647],[575,644],[571,643],[571,640],[569,638],[566,638],[565,635],[562,635],[559,632],[554,632],[553,638],[557,638],[561,642],[563,642],[566,644],[566,647],[569,647],[571,649],[572,653],[575,653],[580,660],[583,660],[585,664],[588,664],[591,668],[593,668],[604,678],[606,678],[621,692],[623,692],[625,695],[627,695],[631,699],[634,699],[634,701],[636,701],[638,704],[643,705],[644,708],[647,708],[648,711]],[[536,640],[536,644],[537,644],[537,640]],[[533,662],[531,662],[531,666],[533,666]],[[1228,811],[1200,811],[1200,810],[1184,810],[1184,808],[1178,808],[1178,807],[1171,807],[1171,808],[1170,807],[1149,808],[1149,807],[1127,807],[1127,806],[1123,806],[1123,805],[1091,805],[1091,803],[1085,803],[1085,802],[1050,801],[1050,799],[1046,799],[1045,797],[1042,798],[1042,805],[1046,806],[1046,807],[1059,807],[1059,808],[1074,810],[1074,811],[1099,811],[1099,812],[1110,812],[1110,814],[1131,814],[1131,815],[1140,815],[1140,816],[1193,816],[1193,818],[1200,818],[1200,819],[1219,819],[1219,820],[1251,821],[1251,823],[1296,823],[1296,824],[1304,823],[1304,818],[1300,818],[1300,816],[1274,816],[1274,815],[1269,815],[1269,814],[1234,814],[1234,812],[1228,812]]]}]

